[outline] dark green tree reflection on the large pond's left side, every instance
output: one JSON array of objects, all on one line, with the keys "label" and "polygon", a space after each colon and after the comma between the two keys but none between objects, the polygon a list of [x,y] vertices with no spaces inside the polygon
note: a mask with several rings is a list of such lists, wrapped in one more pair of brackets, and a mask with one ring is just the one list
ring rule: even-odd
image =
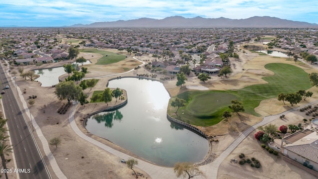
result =
[{"label": "dark green tree reflection on the large pond's left side", "polygon": [[113,127],[113,119],[121,120],[122,118],[123,118],[123,115],[118,110],[107,112],[105,114],[96,114],[93,116],[93,119],[95,119],[97,123],[105,122],[105,127],[108,127],[108,128]]}]

